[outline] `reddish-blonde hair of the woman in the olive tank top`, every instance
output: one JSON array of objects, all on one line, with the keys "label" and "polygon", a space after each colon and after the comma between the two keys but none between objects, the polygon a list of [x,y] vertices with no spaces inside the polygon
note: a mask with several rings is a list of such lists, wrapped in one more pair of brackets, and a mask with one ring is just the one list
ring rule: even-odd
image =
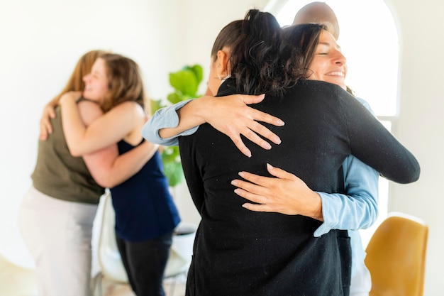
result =
[{"label": "reddish-blonde hair of the woman in the olive tank top", "polygon": [[83,77],[91,72],[92,65],[96,61],[97,57],[103,55],[104,53],[106,53],[104,50],[91,50],[82,55],[75,65],[70,79],[57,97],[60,98],[62,94],[65,94],[65,92],[82,91],[85,87]]}]

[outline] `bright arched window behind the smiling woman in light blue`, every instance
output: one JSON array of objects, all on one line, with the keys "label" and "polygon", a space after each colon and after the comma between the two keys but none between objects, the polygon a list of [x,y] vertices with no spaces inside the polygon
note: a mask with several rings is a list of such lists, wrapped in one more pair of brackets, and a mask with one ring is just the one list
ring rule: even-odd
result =
[{"label": "bright arched window behind the smiling woman in light blue", "polygon": [[[281,26],[312,0],[274,0],[265,7]],[[399,39],[394,18],[383,0],[324,0],[335,11],[340,26],[338,44],[348,60],[347,84],[365,99],[389,130],[397,112]],[[387,216],[389,182],[379,179],[379,219],[362,231],[370,236]]]}]

